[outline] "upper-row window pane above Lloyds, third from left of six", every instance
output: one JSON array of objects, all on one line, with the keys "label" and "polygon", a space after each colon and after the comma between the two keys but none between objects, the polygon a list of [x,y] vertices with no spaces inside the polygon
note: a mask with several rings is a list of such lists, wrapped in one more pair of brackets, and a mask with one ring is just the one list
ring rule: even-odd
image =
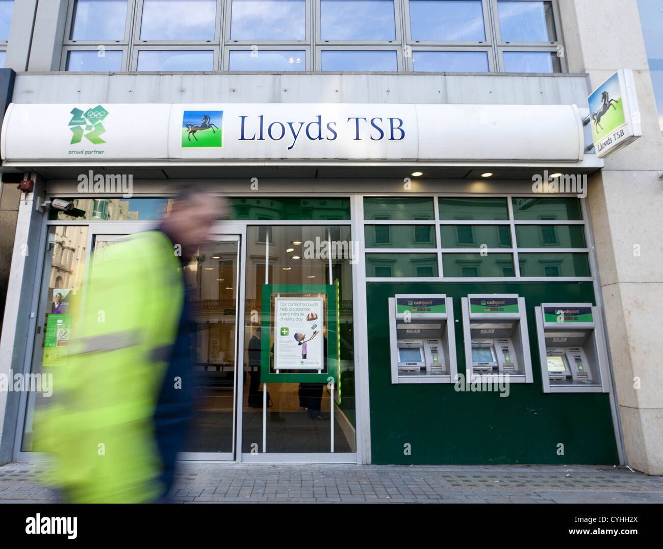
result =
[{"label": "upper-row window pane above Lloyds, third from left of six", "polygon": [[305,0],[233,0],[231,40],[304,40]]}]

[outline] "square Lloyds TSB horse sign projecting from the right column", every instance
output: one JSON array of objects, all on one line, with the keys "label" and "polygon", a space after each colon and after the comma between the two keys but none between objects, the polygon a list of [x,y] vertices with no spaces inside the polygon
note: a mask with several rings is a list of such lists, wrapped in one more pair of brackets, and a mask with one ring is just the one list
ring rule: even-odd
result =
[{"label": "square Lloyds TSB horse sign projecting from the right column", "polygon": [[591,92],[589,113],[594,149],[604,158],[642,135],[631,69],[620,69]]}]

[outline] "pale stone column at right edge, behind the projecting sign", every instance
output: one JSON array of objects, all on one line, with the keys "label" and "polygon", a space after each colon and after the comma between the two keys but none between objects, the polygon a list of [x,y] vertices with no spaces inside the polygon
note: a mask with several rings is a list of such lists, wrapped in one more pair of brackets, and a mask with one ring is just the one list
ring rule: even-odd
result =
[{"label": "pale stone column at right edge, behind the projecting sign", "polygon": [[560,0],[570,72],[588,91],[632,69],[642,137],[589,180],[601,290],[627,462],[663,475],[663,139],[636,2]]}]

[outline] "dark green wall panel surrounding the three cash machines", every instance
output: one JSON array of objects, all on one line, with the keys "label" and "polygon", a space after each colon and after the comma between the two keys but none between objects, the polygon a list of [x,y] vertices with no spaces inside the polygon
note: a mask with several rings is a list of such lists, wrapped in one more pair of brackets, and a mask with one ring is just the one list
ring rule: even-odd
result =
[{"label": "dark green wall panel surrounding the three cash machines", "polygon": [[[458,372],[465,373],[460,298],[519,294],[527,307],[534,383],[499,393],[455,391],[454,385],[391,383],[389,313],[394,294],[453,298]],[[373,463],[619,463],[609,395],[542,392],[534,307],[591,302],[591,282],[367,282],[369,391]],[[404,444],[411,455],[404,455]],[[558,456],[558,444],[564,455]]]}]

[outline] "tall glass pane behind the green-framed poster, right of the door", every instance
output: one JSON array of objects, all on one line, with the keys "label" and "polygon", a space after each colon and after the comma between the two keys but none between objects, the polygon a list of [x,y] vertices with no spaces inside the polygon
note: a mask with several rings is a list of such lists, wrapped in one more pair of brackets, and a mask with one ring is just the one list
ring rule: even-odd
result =
[{"label": "tall glass pane behind the green-framed poster, right of the door", "polygon": [[[335,401],[334,452],[355,452],[355,391],[354,391],[354,348],[353,348],[353,295],[351,259],[342,253],[332,253],[331,276],[330,259],[324,248],[316,242],[326,241],[330,235],[339,241],[351,241],[348,226],[284,226],[274,225],[269,247],[269,264],[265,271],[265,244],[257,242],[259,227],[247,227],[247,251],[245,291],[246,302],[244,319],[245,335],[243,364],[248,369],[244,381],[244,392],[240,395],[240,410],[243,414],[242,452],[251,452],[258,444],[263,451],[263,391],[269,391],[272,405],[265,410],[267,419],[267,452],[330,452],[330,408],[331,398]],[[302,245],[292,245],[294,241]],[[292,259],[293,253],[287,250],[296,248],[300,259]],[[306,253],[306,249],[318,253]],[[312,247],[315,249],[313,250]],[[244,275],[243,275],[244,276]],[[336,341],[339,349],[339,379],[333,394],[326,389],[326,383],[268,383],[261,387],[260,365],[266,357],[262,353],[262,343],[269,341],[272,348],[274,334],[262,328],[261,323],[273,326],[273,318],[263,318],[263,310],[270,310],[269,304],[263,304],[263,285],[265,278],[269,284],[296,284],[301,286],[298,296],[306,292],[312,284],[333,284],[338,281],[338,318],[339,330],[328,335],[328,321],[336,316],[334,310],[328,311],[306,327],[306,337],[310,338],[313,330],[318,330],[316,338],[324,337],[324,349]],[[283,296],[283,294],[282,294]],[[273,303],[273,301],[272,301]],[[256,318],[255,312],[259,318]],[[273,313],[273,305],[271,306]],[[267,313],[266,313],[267,314]],[[331,340],[331,341],[330,341]],[[308,343],[311,345],[320,339]],[[327,356],[327,355],[325,355]],[[273,359],[269,359],[273,371]],[[327,363],[328,361],[325,360]],[[290,375],[290,374],[288,374]],[[298,375],[298,374],[292,374]],[[351,428],[343,428],[351,426]]]}]

